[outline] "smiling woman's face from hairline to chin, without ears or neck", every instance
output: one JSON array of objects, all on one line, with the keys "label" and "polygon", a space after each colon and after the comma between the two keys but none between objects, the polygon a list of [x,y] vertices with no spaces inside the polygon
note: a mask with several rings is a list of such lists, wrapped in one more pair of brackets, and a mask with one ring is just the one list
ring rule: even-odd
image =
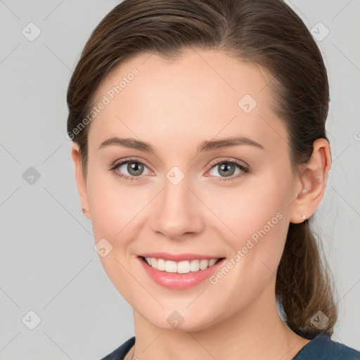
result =
[{"label": "smiling woman's face from hairline to chin, without ears or neck", "polygon": [[[206,328],[273,294],[300,188],[270,79],[198,50],[137,56],[99,88],[83,207],[110,280],[154,326],[180,314],[182,329]],[[205,269],[205,259],[221,260]]]}]

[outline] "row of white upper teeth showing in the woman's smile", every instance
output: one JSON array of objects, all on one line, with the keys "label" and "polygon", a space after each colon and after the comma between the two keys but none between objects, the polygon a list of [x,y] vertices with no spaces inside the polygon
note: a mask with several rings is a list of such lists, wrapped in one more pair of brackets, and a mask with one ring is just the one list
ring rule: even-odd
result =
[{"label": "row of white upper teeth showing in the woman's smile", "polygon": [[204,270],[212,266],[218,259],[202,259],[202,260],[187,260],[184,262],[173,262],[171,260],[155,259],[154,257],[145,257],[146,262],[154,269],[166,271],[168,273],[186,274],[190,271]]}]

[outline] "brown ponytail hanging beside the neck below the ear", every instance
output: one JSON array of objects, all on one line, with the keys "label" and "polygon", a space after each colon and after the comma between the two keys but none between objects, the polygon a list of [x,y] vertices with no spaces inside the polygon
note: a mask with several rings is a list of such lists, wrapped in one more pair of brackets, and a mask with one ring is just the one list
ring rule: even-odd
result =
[{"label": "brown ponytail hanging beside the neck below the ear", "polygon": [[338,311],[329,274],[321,261],[309,220],[290,223],[276,276],[276,296],[285,323],[303,338],[333,334]]}]

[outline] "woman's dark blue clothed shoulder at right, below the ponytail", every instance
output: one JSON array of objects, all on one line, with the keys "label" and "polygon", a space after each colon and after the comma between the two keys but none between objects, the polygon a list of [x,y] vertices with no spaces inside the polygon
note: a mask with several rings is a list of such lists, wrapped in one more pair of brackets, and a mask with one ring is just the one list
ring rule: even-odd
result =
[{"label": "woman's dark blue clothed shoulder at right, below the ponytail", "polygon": [[360,352],[320,334],[309,341],[294,360],[360,360]]}]

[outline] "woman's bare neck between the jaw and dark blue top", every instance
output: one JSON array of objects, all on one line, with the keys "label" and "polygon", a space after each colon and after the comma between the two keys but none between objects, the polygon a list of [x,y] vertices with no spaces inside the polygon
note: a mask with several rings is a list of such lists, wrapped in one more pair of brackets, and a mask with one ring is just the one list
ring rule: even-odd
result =
[{"label": "woman's bare neck between the jaw and dark blue top", "polygon": [[158,328],[134,311],[134,356],[141,360],[293,359],[309,340],[285,326],[276,308],[275,284],[268,285],[247,307],[203,330]]}]

